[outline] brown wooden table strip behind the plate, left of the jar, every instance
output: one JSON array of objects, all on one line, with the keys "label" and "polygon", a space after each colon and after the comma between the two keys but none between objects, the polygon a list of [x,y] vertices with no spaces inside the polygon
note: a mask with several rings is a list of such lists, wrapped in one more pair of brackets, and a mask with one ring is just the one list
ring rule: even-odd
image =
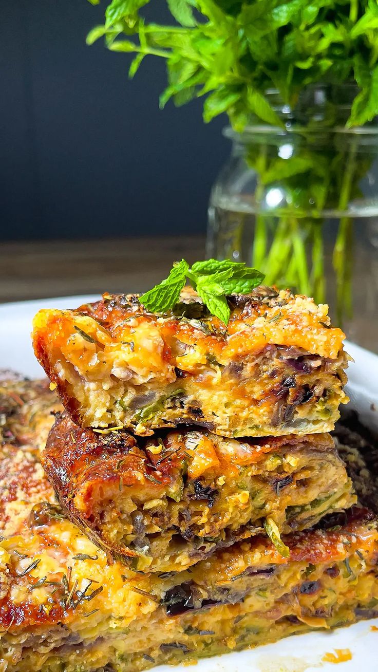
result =
[{"label": "brown wooden table strip behind the plate, left of the jar", "polygon": [[177,259],[205,255],[204,237],[0,244],[0,303],[49,296],[144,292]]}]

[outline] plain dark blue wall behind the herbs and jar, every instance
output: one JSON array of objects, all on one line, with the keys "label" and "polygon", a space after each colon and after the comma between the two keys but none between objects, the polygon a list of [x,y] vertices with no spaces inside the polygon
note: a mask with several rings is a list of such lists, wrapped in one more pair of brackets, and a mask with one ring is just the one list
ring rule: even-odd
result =
[{"label": "plain dark blue wall behind the herbs and jar", "polygon": [[129,81],[128,54],[86,46],[105,6],[0,0],[0,239],[205,230],[226,117],[203,124],[201,100],[160,111],[163,62]]}]

